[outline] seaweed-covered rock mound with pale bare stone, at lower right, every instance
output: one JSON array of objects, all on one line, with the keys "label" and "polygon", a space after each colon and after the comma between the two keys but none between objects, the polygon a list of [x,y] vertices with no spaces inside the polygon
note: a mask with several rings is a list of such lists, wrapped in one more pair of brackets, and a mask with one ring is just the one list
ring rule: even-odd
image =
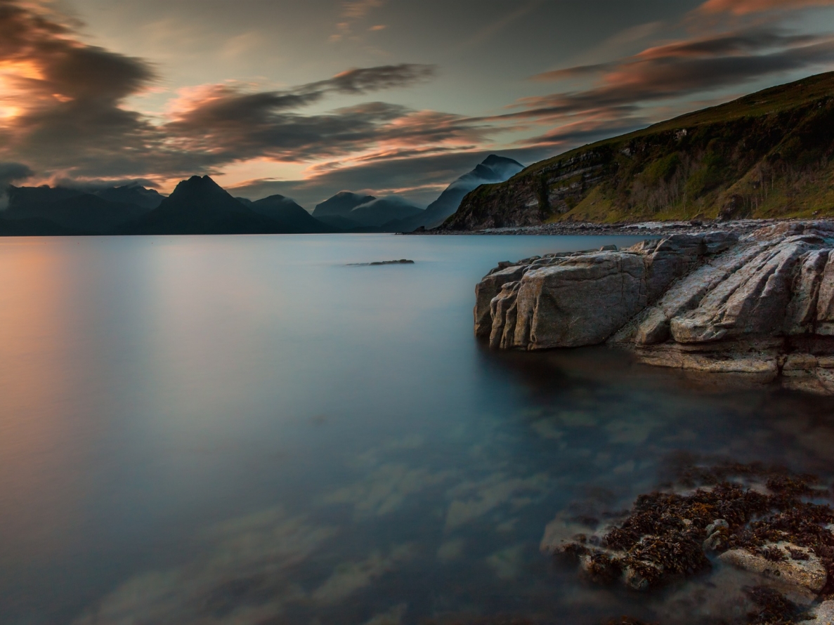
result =
[{"label": "seaweed-covered rock mound with pale bare stone, at lower right", "polygon": [[701,487],[687,493],[641,495],[624,520],[599,532],[567,538],[571,523],[560,513],[541,549],[578,561],[591,582],[636,591],[709,571],[716,560],[756,573],[762,586],[796,602],[810,602],[828,587],[834,534],[826,524],[834,510],[807,501],[829,496],[816,478],[758,465],[728,465],[700,477]]}]

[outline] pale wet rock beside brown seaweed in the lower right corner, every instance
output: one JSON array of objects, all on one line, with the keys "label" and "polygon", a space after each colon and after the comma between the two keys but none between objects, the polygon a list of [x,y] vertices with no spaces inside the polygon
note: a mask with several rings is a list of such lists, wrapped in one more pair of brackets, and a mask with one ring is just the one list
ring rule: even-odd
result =
[{"label": "pale wet rock beside brown seaweed in the lower right corner", "polygon": [[826,585],[826,567],[820,557],[811,549],[791,542],[767,542],[759,553],[730,549],[721,553],[718,559],[759,573],[800,594],[814,595]]}]

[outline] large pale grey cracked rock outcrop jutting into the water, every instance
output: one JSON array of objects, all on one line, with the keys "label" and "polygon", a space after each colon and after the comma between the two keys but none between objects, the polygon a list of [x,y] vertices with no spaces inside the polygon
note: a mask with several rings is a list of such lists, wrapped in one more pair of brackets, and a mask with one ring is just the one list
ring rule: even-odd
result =
[{"label": "large pale grey cracked rock outcrop jutting into the water", "polygon": [[834,393],[834,223],[674,234],[499,263],[475,288],[493,348],[610,343],[641,361]]}]

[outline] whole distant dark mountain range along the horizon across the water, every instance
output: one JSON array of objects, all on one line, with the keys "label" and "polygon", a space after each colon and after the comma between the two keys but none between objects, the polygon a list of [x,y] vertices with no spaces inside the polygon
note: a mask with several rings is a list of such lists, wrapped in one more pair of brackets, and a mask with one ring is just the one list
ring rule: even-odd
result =
[{"label": "whole distant dark mountain range along the horizon across the water", "polygon": [[312,214],[283,195],[233,198],[208,176],[183,180],[168,197],[138,184],[93,191],[11,186],[0,236],[409,232],[442,223],[465,193],[521,169],[511,158],[490,155],[425,210],[396,196],[342,191]]}]

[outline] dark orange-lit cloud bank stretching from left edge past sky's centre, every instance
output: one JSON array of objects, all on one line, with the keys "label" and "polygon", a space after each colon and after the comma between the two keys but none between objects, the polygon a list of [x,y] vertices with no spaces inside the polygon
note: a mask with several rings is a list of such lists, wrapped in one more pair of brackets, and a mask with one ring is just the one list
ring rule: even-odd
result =
[{"label": "dark orange-lit cloud bank stretching from left edge past sky's centre", "polygon": [[385,141],[445,141],[465,133],[454,116],[427,117],[385,102],[298,112],[329,93],[361,95],[434,75],[434,67],[414,63],[354,68],[283,91],[198,87],[159,126],[124,106],[125,98],[153,85],[153,67],[83,44],[62,19],[38,5],[0,0],[0,63],[13,62],[16,70],[9,96],[15,114],[0,125],[0,155],[32,160],[46,172],[168,178],[248,158],[334,158]]}]

